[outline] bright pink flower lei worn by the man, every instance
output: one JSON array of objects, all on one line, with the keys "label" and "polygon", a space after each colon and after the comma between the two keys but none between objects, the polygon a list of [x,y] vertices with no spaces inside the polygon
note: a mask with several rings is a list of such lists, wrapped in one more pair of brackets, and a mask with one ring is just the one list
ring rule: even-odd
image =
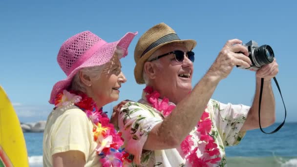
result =
[{"label": "bright pink flower lei worn by the man", "polygon": [[[164,97],[162,101],[158,100],[160,93],[154,91],[152,87],[147,86],[144,89],[144,92],[146,93],[148,103],[158,111],[162,112],[165,117],[167,117],[175,108],[175,105],[169,104],[168,98]],[[200,152],[203,153],[203,158],[197,156],[196,151],[198,150],[198,146],[191,150],[191,147],[194,146],[191,135],[188,135],[180,145],[185,158],[193,167],[208,167],[210,164],[216,164],[221,160],[217,144],[214,143],[214,139],[210,135],[212,120],[209,116],[209,113],[204,111],[197,124],[197,132],[200,134],[200,141],[205,145],[204,152],[203,150],[200,150]]]}]

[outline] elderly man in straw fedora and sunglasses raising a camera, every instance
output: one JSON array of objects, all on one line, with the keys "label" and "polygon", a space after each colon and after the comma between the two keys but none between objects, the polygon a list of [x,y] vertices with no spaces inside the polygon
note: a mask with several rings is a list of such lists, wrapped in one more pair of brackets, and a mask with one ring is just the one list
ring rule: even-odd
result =
[{"label": "elderly man in straw fedora and sunglasses raising a camera", "polygon": [[[194,40],[180,40],[160,23],[145,32],[135,47],[134,75],[146,84],[142,98],[128,102],[119,113],[130,166],[223,167],[225,146],[237,145],[247,130],[258,128],[260,78],[264,78],[262,126],[275,122],[271,78],[276,61],[256,72],[251,107],[223,104],[211,96],[235,65],[250,67],[248,50],[241,41],[229,40],[203,78],[192,88]],[[139,92],[140,93],[140,92]]]}]

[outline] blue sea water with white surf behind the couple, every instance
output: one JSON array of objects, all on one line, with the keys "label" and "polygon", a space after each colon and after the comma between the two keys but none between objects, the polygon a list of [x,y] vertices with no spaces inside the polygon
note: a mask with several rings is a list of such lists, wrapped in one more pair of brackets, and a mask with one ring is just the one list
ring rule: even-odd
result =
[{"label": "blue sea water with white surf behind the couple", "polygon": [[[265,129],[271,131],[278,124]],[[43,133],[24,133],[30,167],[42,167]],[[248,131],[241,143],[226,148],[228,167],[297,167],[297,123],[275,134]]]}]

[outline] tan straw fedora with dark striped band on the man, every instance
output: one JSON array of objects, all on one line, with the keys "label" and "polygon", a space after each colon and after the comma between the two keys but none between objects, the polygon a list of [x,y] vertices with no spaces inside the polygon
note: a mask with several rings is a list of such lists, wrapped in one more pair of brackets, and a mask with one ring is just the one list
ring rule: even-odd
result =
[{"label": "tan straw fedora with dark striped band on the man", "polygon": [[160,47],[169,43],[184,43],[188,50],[196,46],[194,40],[180,40],[175,31],[165,23],[159,23],[151,27],[138,40],[134,50],[134,77],[137,84],[145,84],[143,79],[143,65],[150,55]]}]

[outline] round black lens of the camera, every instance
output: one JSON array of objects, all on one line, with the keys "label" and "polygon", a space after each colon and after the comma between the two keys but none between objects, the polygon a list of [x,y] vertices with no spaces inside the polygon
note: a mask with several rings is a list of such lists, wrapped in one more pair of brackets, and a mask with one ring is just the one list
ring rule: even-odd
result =
[{"label": "round black lens of the camera", "polygon": [[254,56],[255,63],[257,63],[259,66],[272,63],[275,58],[272,48],[266,44],[256,48],[254,51]]}]

